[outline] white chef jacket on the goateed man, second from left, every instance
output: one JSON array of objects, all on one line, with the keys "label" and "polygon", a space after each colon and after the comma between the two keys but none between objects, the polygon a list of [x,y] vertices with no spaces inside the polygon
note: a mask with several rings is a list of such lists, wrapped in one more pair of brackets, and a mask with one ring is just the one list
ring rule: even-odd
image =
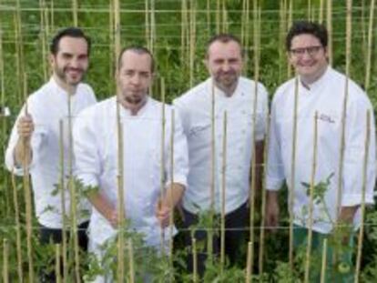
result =
[{"label": "white chef jacket on the goateed man, second from left", "polygon": [[[117,207],[117,102],[112,97],[83,111],[74,128],[76,176],[86,185],[99,187],[102,195]],[[138,115],[120,106],[124,145],[125,214],[131,227],[145,235],[148,246],[158,246],[161,230],[155,209],[161,192],[162,104],[148,97]],[[165,179],[171,180],[170,137],[172,107],[165,116]],[[186,187],[187,142],[178,114],[174,130],[174,182]],[[93,209],[89,238],[101,245],[116,231],[97,209]],[[168,235],[168,232],[166,233]],[[167,237],[168,238],[168,237]]]}]

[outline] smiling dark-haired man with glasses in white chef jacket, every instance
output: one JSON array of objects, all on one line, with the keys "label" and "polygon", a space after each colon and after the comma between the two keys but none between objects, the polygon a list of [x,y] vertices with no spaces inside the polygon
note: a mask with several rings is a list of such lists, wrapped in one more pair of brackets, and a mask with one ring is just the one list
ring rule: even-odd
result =
[{"label": "smiling dark-haired man with glasses in white chef jacket", "polygon": [[[322,25],[311,22],[292,25],[287,35],[287,52],[298,76],[280,86],[272,101],[267,224],[270,227],[278,225],[278,190],[286,182],[293,194],[294,247],[306,247],[308,229],[312,228],[312,248],[321,253],[324,238],[336,239],[341,226],[359,227],[358,208],[363,201],[373,203],[375,135],[372,105],[361,87],[329,66],[327,31]],[[368,110],[371,138],[363,199]],[[315,123],[317,130],[314,130]],[[316,167],[313,164],[314,147]],[[292,160],[293,156],[295,160]],[[314,199],[310,219],[311,177],[314,177]],[[349,236],[346,233],[338,243],[343,241],[346,247],[352,245],[352,233]],[[347,248],[342,256],[335,253],[336,268],[331,256],[333,249],[329,248],[330,270],[344,266],[352,270],[352,252]],[[353,281],[350,270],[346,274],[327,272],[329,282],[340,282],[337,276],[342,278],[341,282]],[[319,270],[311,269],[312,278],[319,279],[319,274]]]}]

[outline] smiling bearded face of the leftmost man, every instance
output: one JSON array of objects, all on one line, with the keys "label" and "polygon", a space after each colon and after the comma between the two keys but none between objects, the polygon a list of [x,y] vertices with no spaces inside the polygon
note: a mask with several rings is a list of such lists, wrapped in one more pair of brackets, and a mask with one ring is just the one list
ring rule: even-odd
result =
[{"label": "smiling bearded face of the leftmost man", "polygon": [[81,37],[62,37],[56,55],[51,55],[50,60],[54,74],[63,83],[76,86],[87,72],[87,41]]}]

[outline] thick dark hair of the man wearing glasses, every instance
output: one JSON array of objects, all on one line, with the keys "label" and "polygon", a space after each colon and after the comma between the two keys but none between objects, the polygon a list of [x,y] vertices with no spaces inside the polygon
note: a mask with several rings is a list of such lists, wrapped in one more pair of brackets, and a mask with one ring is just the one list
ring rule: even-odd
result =
[{"label": "thick dark hair of the man wearing glasses", "polygon": [[297,21],[290,27],[290,31],[285,39],[285,46],[287,51],[290,51],[290,45],[292,39],[296,35],[313,35],[317,37],[323,47],[327,47],[328,34],[324,25],[309,22],[309,21]]}]

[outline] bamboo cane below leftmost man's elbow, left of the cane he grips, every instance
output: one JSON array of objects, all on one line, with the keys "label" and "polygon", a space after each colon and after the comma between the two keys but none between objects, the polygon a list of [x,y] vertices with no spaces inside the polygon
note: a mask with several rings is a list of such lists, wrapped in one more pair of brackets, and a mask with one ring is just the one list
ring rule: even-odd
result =
[{"label": "bamboo cane below leftmost man's elbow, left of the cane he grips", "polygon": [[11,176],[13,188],[13,200],[15,205],[15,247],[17,254],[17,274],[19,282],[24,281],[23,268],[22,268],[22,247],[21,247],[21,225],[20,225],[20,209],[18,206],[17,187],[15,186],[15,174],[12,172]]}]

